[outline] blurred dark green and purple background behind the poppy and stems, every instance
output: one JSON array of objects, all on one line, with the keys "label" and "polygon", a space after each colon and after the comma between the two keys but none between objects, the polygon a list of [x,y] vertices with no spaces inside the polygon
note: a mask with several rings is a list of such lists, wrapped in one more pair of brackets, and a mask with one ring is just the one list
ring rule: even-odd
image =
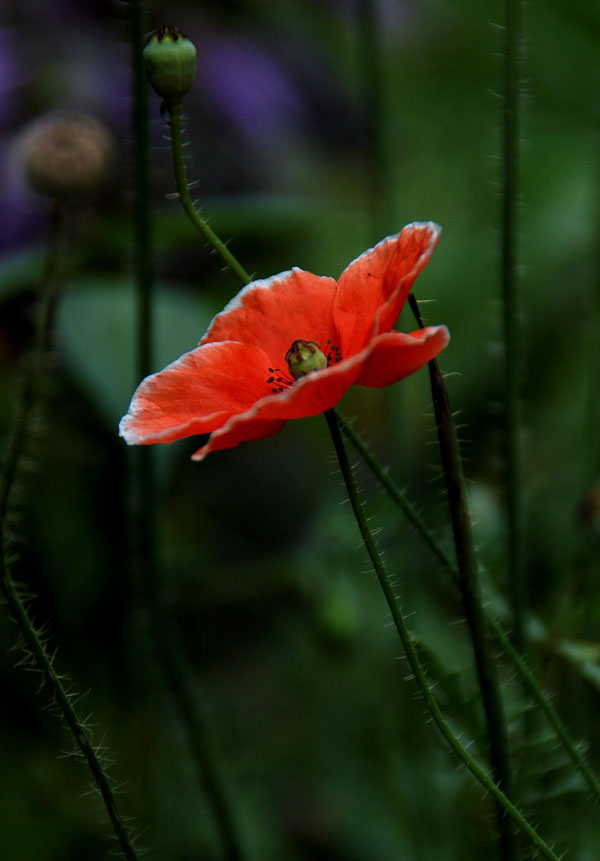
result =
[{"label": "blurred dark green and purple background behind the poppy and stems", "polygon": [[[506,626],[499,305],[502,4],[491,0],[149,3],[148,26],[196,44],[186,158],[203,213],[257,276],[337,276],[414,220],[443,226],[415,290],[452,333],[441,356],[460,411],[486,595]],[[375,9],[375,36],[371,10]],[[155,667],[130,573],[130,458],[117,424],[134,369],[129,5],[4,2],[0,26],[0,420],[32,332],[49,206],[23,140],[48,112],[114,135],[110,181],[80,203],[55,309],[50,375],[13,494],[15,576],[37,596],[57,666],[114,755],[120,802],[149,857],[221,858],[184,733]],[[600,765],[598,486],[600,10],[524,10],[519,261],[524,555],[532,665]],[[382,86],[375,82],[381,79]],[[177,200],[151,95],[158,370],[194,347],[237,292]],[[414,328],[408,314],[400,326]],[[436,534],[451,541],[425,371],[341,408]],[[158,452],[158,541],[194,685],[248,857],[407,861],[492,857],[493,812],[405,681],[322,418],[211,455]],[[454,726],[485,756],[472,659],[447,574],[359,470],[380,546]],[[587,499],[587,504],[586,504]],[[108,828],[70,740],[15,668],[0,614],[0,833],[7,861],[106,857]],[[509,714],[521,694],[504,673]],[[515,726],[521,725],[520,718]],[[597,811],[533,719],[519,798],[569,857],[597,858]],[[516,759],[523,761],[522,752]],[[594,819],[596,822],[594,823]]]}]

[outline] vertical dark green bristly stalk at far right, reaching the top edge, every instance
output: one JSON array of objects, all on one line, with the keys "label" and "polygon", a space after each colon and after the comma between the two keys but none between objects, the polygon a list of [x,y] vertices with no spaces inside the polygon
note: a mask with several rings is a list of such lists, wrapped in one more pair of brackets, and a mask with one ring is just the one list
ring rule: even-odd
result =
[{"label": "vertical dark green bristly stalk at far right, reaching the top edge", "polygon": [[504,100],[502,106],[502,212],[500,288],[504,329],[506,515],[508,573],[514,614],[513,638],[525,647],[526,586],[522,554],[519,392],[521,350],[517,301],[517,203],[519,178],[519,21],[520,0],[505,0]]}]

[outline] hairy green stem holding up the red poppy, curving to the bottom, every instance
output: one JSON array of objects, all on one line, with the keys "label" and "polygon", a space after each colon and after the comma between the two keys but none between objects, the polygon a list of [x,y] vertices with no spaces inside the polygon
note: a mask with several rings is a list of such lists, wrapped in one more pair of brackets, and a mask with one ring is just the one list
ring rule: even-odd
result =
[{"label": "hairy green stem holding up the red poppy, curving to the bottom", "polygon": [[476,760],[470,755],[468,750],[454,735],[448,722],[443,716],[437,704],[437,701],[433,696],[431,687],[425,675],[425,671],[423,669],[421,661],[419,660],[419,656],[413,646],[412,637],[400,609],[400,605],[398,602],[398,598],[396,597],[394,587],[392,586],[389,575],[377,550],[375,539],[373,538],[373,534],[369,528],[368,520],[360,499],[358,487],[354,479],[346,449],[344,447],[337,416],[333,410],[329,410],[325,413],[325,418],[327,419],[327,425],[331,433],[331,438],[337,454],[340,470],[346,484],[350,504],[352,505],[352,510],[354,512],[354,516],[356,518],[360,534],[365,544],[365,548],[367,550],[367,553],[369,554],[369,558],[377,575],[377,579],[379,580],[379,584],[387,601],[390,613],[392,615],[392,619],[394,621],[394,625],[402,641],[404,651],[406,652],[406,658],[412,670],[415,682],[437,728],[442,733],[454,753],[459,757],[459,759],[464,763],[464,765],[469,769],[469,771],[476,777],[476,779],[485,787],[485,789],[490,793],[490,795],[493,796],[496,803],[529,837],[529,839],[532,841],[538,851],[544,856],[544,858],[549,858],[553,859],[553,861],[557,861],[558,856],[554,854],[552,849],[539,836],[539,834],[537,834],[535,829],[529,824],[529,822],[525,819],[525,817],[518,810],[518,808],[515,807],[512,801],[510,801],[510,799],[505,795],[505,793],[502,792],[502,790],[496,785],[496,783],[487,774],[487,772],[483,768],[481,768],[481,766],[476,762]]}]

